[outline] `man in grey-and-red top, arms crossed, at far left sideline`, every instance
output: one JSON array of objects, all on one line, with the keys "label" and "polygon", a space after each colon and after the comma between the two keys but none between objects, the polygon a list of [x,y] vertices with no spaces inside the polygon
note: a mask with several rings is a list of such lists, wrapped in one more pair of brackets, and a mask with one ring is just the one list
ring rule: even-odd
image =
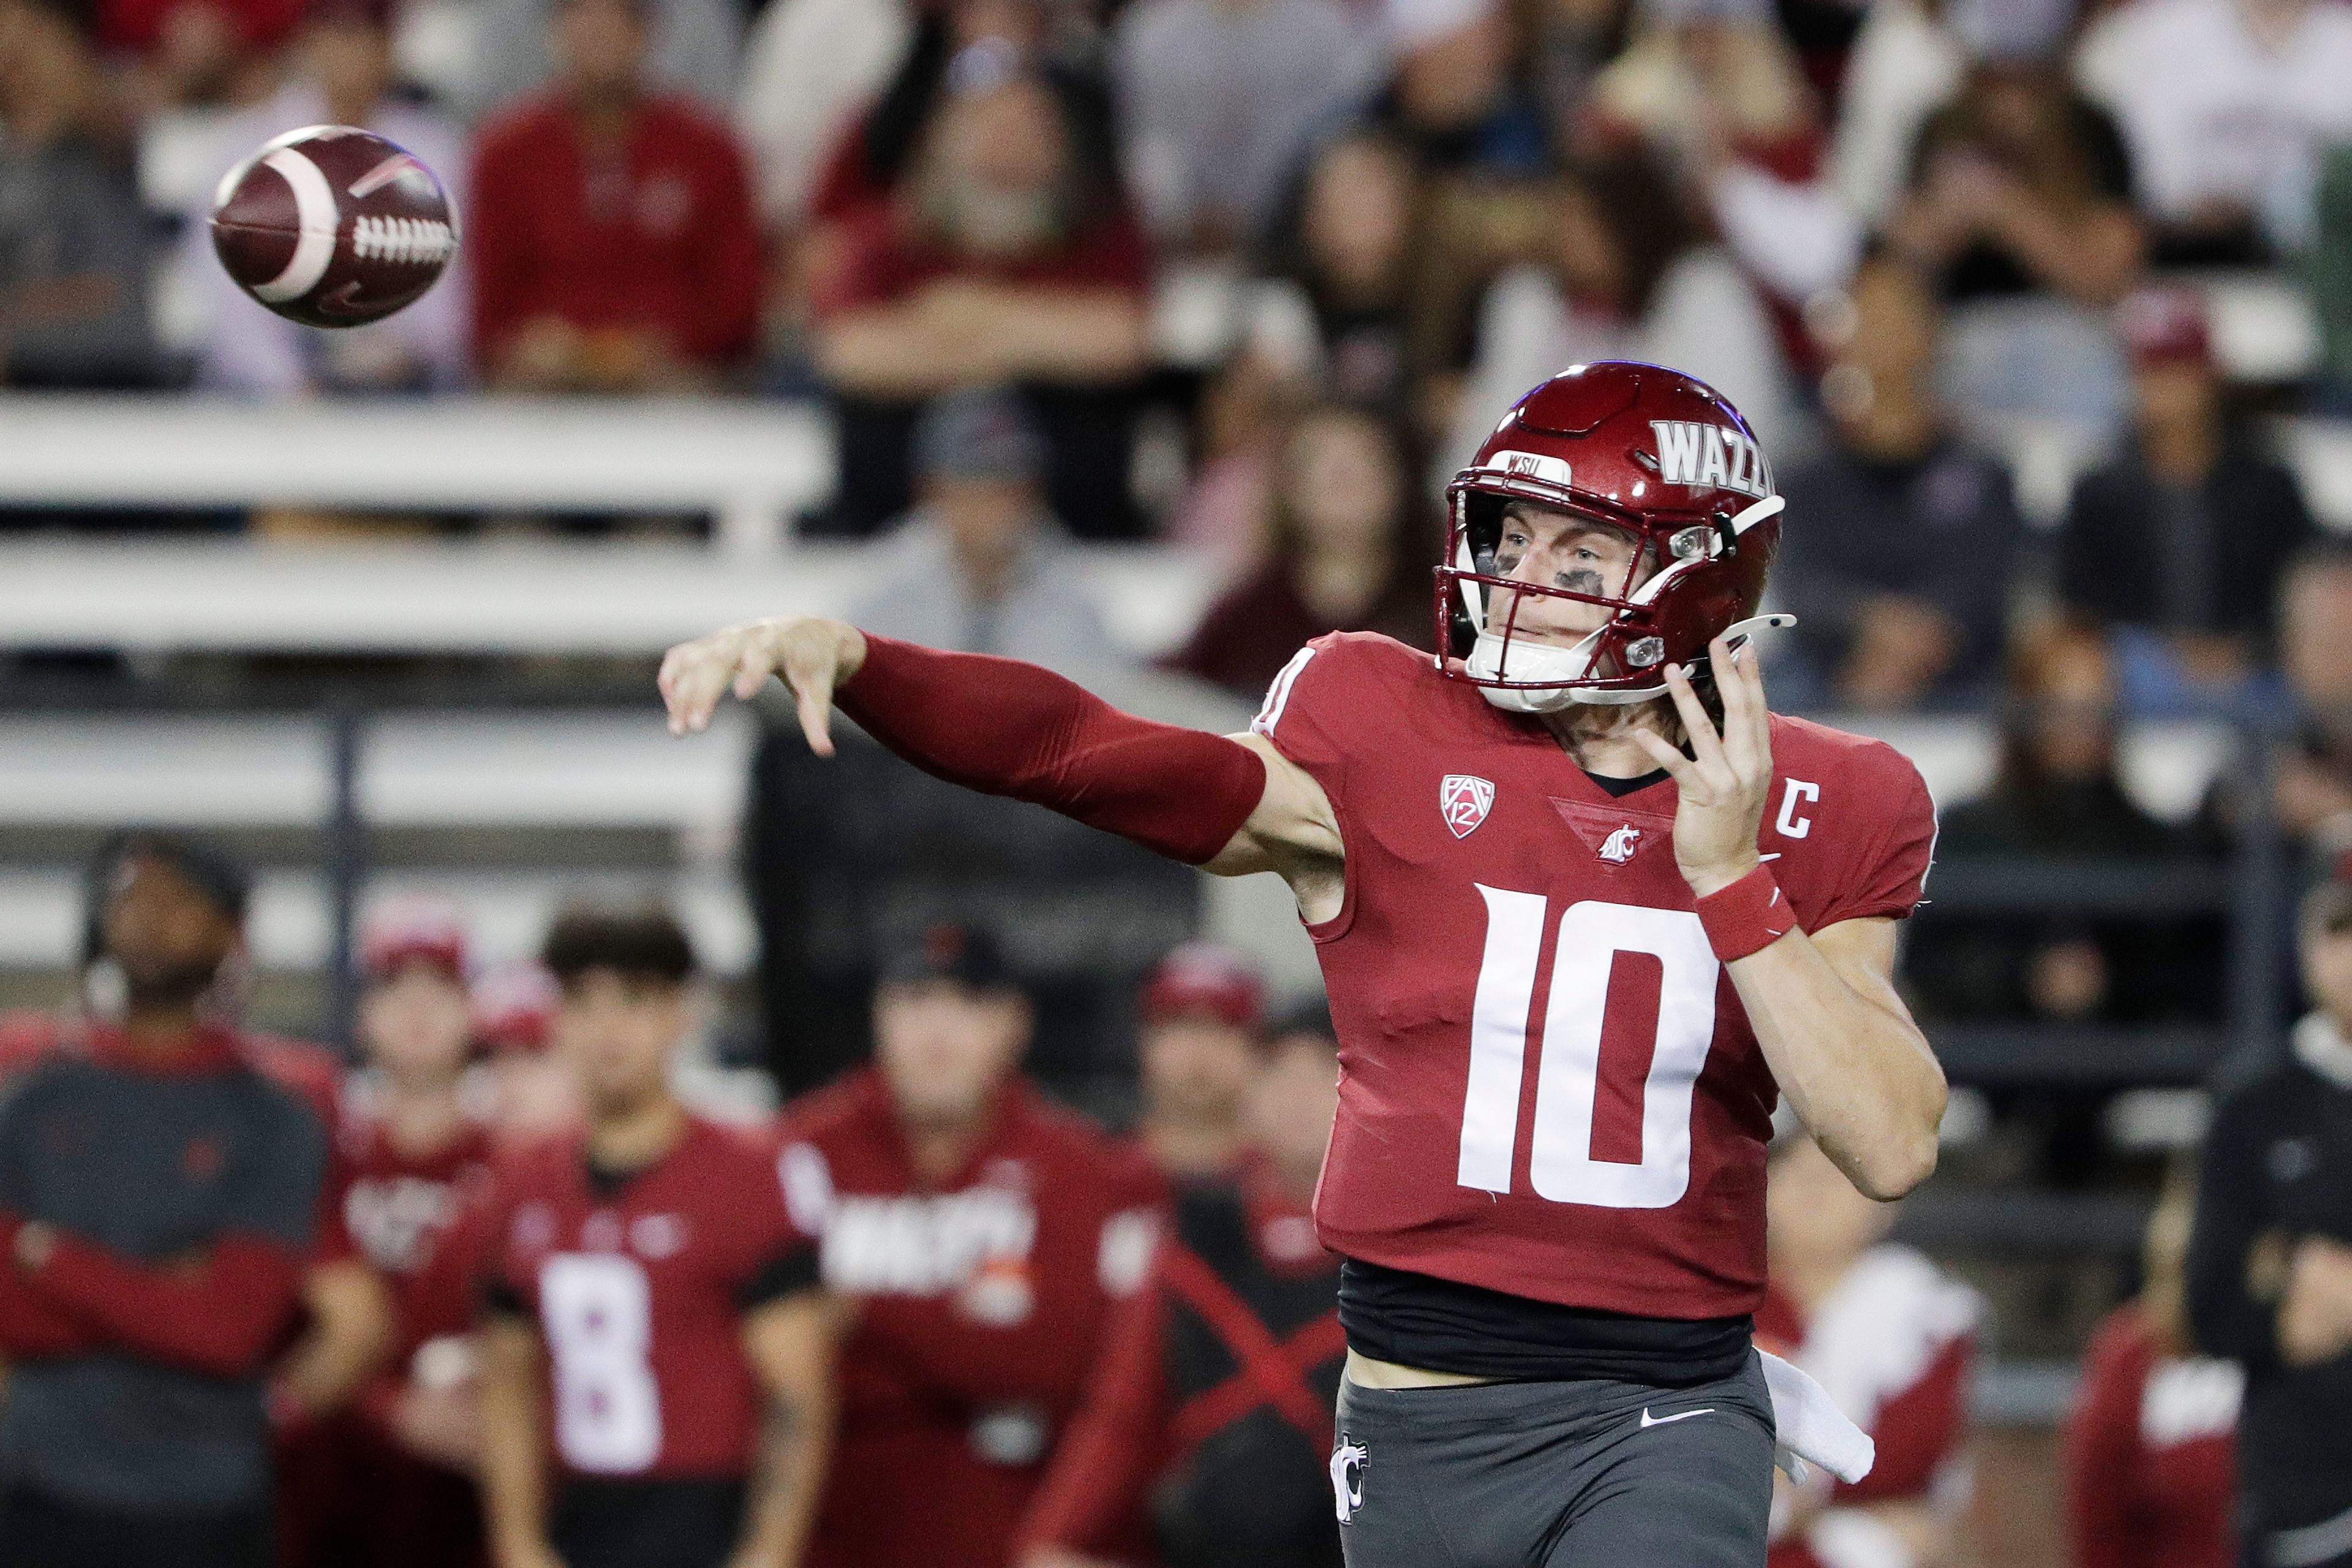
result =
[{"label": "man in grey-and-red top, arms crossed, at far left sideline", "polygon": [[94,886],[120,1020],[0,1105],[0,1563],[268,1568],[263,1371],[327,1131],[216,1023],[245,872],[134,835]]}]

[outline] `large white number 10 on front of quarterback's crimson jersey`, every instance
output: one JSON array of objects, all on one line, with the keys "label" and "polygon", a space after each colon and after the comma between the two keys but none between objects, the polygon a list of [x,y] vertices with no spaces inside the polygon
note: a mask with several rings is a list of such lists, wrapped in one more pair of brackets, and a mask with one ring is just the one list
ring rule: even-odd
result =
[{"label": "large white number 10 on front of quarterback's crimson jersey", "polygon": [[[1470,1086],[1456,1180],[1510,1192],[1519,1143],[1519,1077],[1550,903],[1479,884],[1486,900],[1486,954],[1470,1009]],[[1646,957],[1625,964],[1621,959]],[[1552,992],[1536,1063],[1536,1121],[1526,1175],[1536,1197],[1599,1208],[1670,1208],[1691,1185],[1691,1091],[1715,1044],[1715,985],[1722,964],[1698,914],[1625,903],[1571,903],[1552,945]],[[1635,1039],[1602,1058],[1611,1034]],[[1653,1018],[1649,1072],[1639,1072],[1639,1027]],[[1604,1077],[1606,1074],[1606,1077]],[[1595,1107],[1639,1093],[1639,1159],[1595,1154]],[[1628,1150],[1613,1150],[1618,1154]]]}]

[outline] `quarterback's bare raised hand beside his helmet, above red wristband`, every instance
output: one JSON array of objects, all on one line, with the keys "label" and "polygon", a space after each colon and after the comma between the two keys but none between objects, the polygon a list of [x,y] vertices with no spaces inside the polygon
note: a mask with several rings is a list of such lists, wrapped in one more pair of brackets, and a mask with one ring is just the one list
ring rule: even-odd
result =
[{"label": "quarterback's bare raised hand beside his helmet, above red wristband", "polygon": [[1755,644],[1731,649],[1717,637],[1708,644],[1708,665],[1724,698],[1722,733],[1682,665],[1668,665],[1665,689],[1691,738],[1691,755],[1684,757],[1661,733],[1635,731],[1642,750],[1675,776],[1682,795],[1675,811],[1675,865],[1700,898],[1759,865],[1757,830],[1771,792],[1771,715],[1764,708],[1764,672],[1757,668]]}]

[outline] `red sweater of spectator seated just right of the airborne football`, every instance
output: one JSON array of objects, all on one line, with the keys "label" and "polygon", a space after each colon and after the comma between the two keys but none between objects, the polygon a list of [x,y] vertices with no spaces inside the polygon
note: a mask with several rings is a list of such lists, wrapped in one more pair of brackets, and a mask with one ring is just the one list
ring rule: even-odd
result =
[{"label": "red sweater of spectator seated just right of the airborne football", "polygon": [[496,120],[475,148],[466,249],[482,364],[536,317],[659,331],[699,364],[743,355],[757,329],[743,155],[680,99],[644,99],[609,148],[553,99]]}]

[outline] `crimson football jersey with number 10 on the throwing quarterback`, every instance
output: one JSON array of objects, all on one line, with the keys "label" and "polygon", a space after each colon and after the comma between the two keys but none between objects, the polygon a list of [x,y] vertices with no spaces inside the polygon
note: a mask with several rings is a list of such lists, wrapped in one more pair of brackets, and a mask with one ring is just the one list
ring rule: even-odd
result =
[{"label": "crimson football jersey with number 10 on the throwing quarterback", "polygon": [[[1399,642],[1298,651],[1251,724],[1345,844],[1310,926],[1341,1039],[1324,1246],[1569,1307],[1764,1291],[1778,1086],[1675,867],[1675,783],[1611,797]],[[1773,717],[1759,846],[1799,924],[1903,917],[1936,813],[1896,750]]]}]

